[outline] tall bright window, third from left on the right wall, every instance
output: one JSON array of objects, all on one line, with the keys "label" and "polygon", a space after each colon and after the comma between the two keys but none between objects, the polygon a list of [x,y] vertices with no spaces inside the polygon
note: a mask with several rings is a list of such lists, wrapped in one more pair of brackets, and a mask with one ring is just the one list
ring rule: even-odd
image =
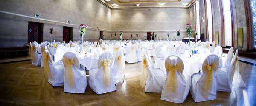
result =
[{"label": "tall bright window, third from left on the right wall", "polygon": [[223,2],[223,12],[225,20],[225,42],[226,46],[232,45],[232,25],[231,25],[231,11],[230,11],[230,0],[222,0]]}]

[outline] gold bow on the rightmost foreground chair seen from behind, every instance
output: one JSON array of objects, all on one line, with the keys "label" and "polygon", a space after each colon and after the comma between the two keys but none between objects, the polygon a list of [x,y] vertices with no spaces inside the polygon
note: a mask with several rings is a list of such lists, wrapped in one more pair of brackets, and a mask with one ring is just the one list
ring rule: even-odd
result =
[{"label": "gold bow on the rightmost foreground chair seen from behind", "polygon": [[212,80],[213,80],[213,70],[217,70],[219,65],[219,59],[217,59],[212,64],[208,64],[207,59],[204,60],[203,66],[202,66],[202,73],[206,72],[207,70],[207,76],[204,83],[204,88],[202,91],[202,95],[205,99],[208,98],[209,94],[212,91]]}]

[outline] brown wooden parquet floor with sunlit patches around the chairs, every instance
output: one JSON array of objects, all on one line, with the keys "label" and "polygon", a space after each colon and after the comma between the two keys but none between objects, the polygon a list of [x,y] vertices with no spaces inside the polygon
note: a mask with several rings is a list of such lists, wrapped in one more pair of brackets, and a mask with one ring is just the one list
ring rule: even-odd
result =
[{"label": "brown wooden parquet floor with sunlit patches around the chairs", "polygon": [[[1,106],[244,106],[245,89],[250,106],[256,105],[256,66],[239,62],[239,73],[246,86],[234,85],[232,92],[217,91],[217,99],[195,103],[187,96],[184,103],[160,100],[161,93],[145,93],[140,87],[142,63],[127,64],[125,81],[117,91],[97,95],[89,85],[83,94],[65,93],[64,86],[53,88],[44,78],[43,68],[30,61],[0,64]],[[87,76],[87,81],[89,76]],[[89,84],[89,83],[88,83]],[[246,100],[245,100],[246,101]]]}]

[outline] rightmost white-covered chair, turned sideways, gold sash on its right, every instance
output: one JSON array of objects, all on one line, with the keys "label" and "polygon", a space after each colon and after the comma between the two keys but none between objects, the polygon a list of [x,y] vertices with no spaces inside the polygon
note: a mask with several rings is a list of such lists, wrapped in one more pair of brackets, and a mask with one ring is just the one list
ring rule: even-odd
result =
[{"label": "rightmost white-covered chair, turned sideways, gold sash on its right", "polygon": [[[230,67],[221,68],[216,72],[217,91],[231,92],[234,75],[238,73],[238,50],[231,61]],[[232,58],[232,57],[231,57]]]}]

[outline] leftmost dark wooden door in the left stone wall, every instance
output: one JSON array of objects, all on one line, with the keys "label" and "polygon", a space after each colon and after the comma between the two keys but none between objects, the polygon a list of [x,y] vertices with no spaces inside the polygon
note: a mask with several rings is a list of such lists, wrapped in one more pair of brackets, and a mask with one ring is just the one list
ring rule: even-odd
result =
[{"label": "leftmost dark wooden door in the left stone wall", "polygon": [[28,28],[28,43],[41,42],[41,23],[29,22]]}]

